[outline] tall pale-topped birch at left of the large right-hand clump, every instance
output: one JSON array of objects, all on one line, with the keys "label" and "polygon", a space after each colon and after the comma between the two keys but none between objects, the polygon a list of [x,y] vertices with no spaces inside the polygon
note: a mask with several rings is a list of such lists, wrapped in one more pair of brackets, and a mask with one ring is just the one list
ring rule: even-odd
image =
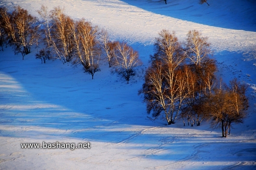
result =
[{"label": "tall pale-topped birch at left of the large right-hand clump", "polygon": [[167,30],[162,30],[155,42],[151,66],[145,74],[145,83],[139,94],[144,94],[148,113],[153,117],[164,113],[168,125],[175,122],[187,97],[187,79],[183,71],[185,59],[180,43]]}]

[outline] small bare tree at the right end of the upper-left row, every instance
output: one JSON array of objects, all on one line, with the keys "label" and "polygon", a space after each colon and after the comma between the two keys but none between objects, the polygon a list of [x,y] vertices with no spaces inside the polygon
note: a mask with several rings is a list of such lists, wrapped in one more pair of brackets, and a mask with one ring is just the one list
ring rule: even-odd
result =
[{"label": "small bare tree at the right end of the upper-left row", "polygon": [[117,42],[116,51],[114,62],[115,73],[124,77],[128,84],[130,78],[136,74],[135,68],[142,65],[142,62],[139,59],[138,52],[134,51],[125,42]]}]

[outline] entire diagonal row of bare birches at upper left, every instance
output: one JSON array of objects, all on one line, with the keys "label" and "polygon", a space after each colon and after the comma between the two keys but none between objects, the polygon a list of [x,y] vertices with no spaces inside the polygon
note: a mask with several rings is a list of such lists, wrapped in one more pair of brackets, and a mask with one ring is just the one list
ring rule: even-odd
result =
[{"label": "entire diagonal row of bare birches at upper left", "polygon": [[[30,53],[32,45],[44,44],[37,59],[60,59],[63,63],[82,65],[84,72],[93,76],[100,71],[99,62],[104,59],[113,66],[114,73],[127,83],[135,75],[135,68],[142,65],[139,54],[126,42],[110,41],[107,31],[99,30],[85,19],[73,20],[64,9],[55,7],[48,11],[42,6],[37,11],[40,20],[20,6],[12,13],[0,8],[0,45],[11,45],[15,54]],[[40,35],[44,35],[41,37]]]}]

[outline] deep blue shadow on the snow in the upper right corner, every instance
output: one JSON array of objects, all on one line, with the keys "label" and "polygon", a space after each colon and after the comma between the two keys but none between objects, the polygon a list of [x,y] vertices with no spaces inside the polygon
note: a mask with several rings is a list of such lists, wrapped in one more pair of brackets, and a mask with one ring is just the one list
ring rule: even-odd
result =
[{"label": "deep blue shadow on the snow in the upper right corner", "polygon": [[245,31],[256,31],[256,1],[208,1],[200,5],[191,0],[122,0],[155,14],[194,23]]}]

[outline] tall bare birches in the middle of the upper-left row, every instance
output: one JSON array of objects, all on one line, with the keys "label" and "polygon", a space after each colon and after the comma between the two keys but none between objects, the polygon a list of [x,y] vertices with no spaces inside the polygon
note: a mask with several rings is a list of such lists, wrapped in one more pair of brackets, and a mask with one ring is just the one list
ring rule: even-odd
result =
[{"label": "tall bare birches in the middle of the upper-left row", "polygon": [[84,19],[73,20],[60,7],[48,11],[47,7],[42,6],[38,14],[44,25],[46,48],[42,51],[50,51],[52,58],[60,59],[64,63],[83,65],[84,72],[91,74],[93,79],[94,74],[100,71],[98,27]]}]

